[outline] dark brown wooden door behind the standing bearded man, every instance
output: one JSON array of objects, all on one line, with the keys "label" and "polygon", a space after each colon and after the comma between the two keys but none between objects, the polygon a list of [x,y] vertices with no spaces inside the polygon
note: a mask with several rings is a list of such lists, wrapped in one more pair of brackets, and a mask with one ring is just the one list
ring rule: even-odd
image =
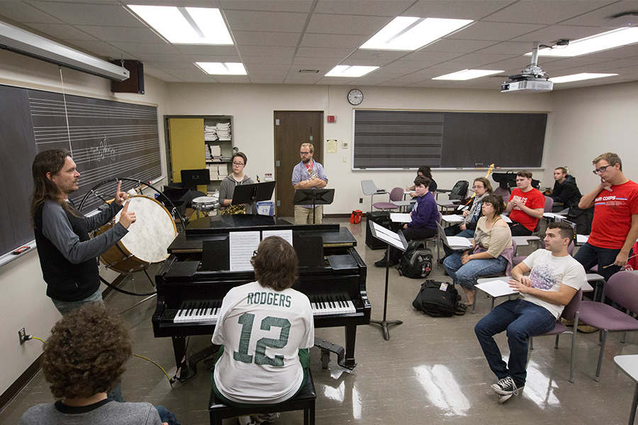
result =
[{"label": "dark brown wooden door behind the standing bearded man", "polygon": [[[323,111],[274,111],[275,207],[277,217],[294,217],[293,168],[301,162],[302,143],[312,143],[313,159],[323,165]],[[330,179],[330,171],[325,171]]]}]

